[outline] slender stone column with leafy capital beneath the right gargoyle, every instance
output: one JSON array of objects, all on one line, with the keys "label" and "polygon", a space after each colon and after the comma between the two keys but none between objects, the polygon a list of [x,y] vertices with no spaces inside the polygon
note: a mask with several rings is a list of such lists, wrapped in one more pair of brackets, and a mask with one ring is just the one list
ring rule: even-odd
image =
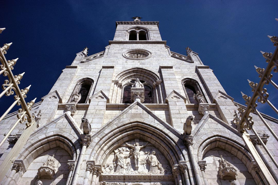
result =
[{"label": "slender stone column with leafy capital beneath the right gargoyle", "polygon": [[201,181],[201,178],[200,178],[197,163],[196,163],[196,160],[195,160],[195,157],[194,157],[194,154],[193,154],[193,148],[192,148],[193,136],[184,135],[183,142],[185,143],[185,145],[187,145],[188,150],[189,150],[190,159],[191,159],[192,166],[193,166],[193,169],[194,169],[194,172],[195,172],[195,178],[196,178],[197,185],[202,185],[202,181]]}]

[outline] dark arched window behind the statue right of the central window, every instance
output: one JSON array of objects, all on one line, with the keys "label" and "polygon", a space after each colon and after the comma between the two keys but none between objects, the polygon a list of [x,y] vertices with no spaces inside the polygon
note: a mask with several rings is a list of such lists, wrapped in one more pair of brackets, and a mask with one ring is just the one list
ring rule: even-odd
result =
[{"label": "dark arched window behind the statue right of the central window", "polygon": [[[198,103],[194,99],[194,94],[197,94],[197,91],[199,91],[202,95],[204,95],[198,82],[193,79],[187,78],[183,80],[182,84],[183,84],[183,90],[185,92],[185,95],[187,96],[188,103]],[[205,101],[207,102],[206,98]]]}]

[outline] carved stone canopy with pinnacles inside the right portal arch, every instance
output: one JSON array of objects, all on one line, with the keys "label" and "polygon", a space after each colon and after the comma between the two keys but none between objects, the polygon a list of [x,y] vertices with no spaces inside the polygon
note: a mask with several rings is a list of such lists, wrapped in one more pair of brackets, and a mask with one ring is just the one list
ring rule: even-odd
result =
[{"label": "carved stone canopy with pinnacles inside the right portal arch", "polygon": [[218,175],[220,179],[237,179],[237,170],[220,155]]}]

